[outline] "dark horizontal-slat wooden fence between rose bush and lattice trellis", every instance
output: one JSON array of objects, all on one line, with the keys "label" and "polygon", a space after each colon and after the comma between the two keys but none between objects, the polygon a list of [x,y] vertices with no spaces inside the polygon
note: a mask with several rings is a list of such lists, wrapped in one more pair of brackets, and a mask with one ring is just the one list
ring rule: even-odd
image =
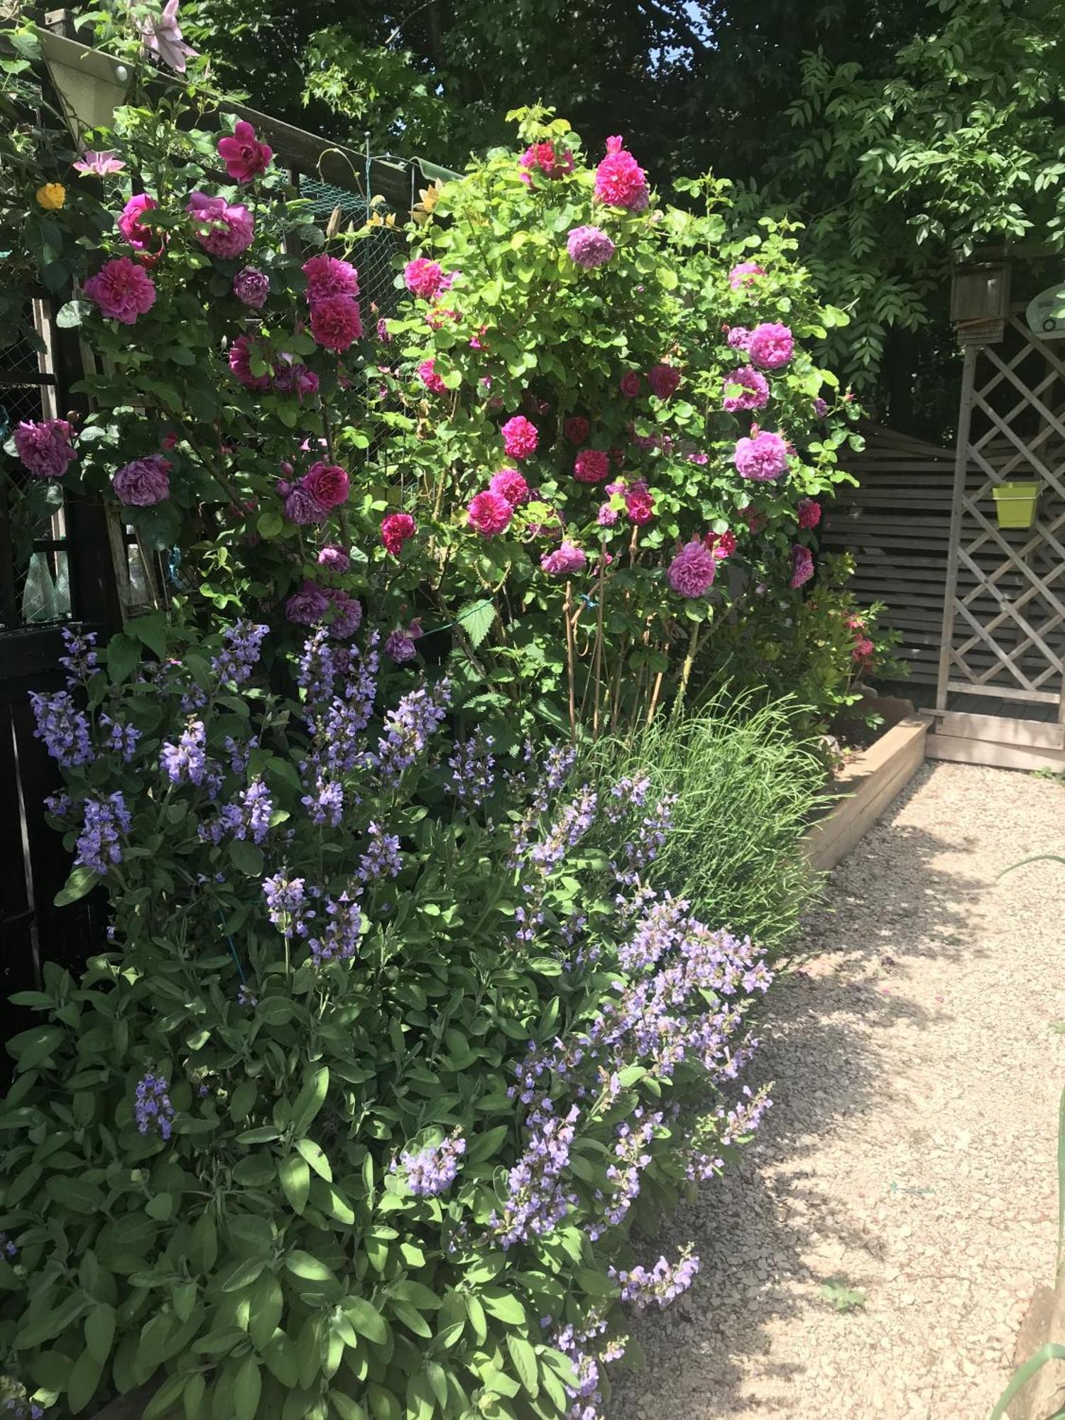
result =
[{"label": "dark horizontal-slat wooden fence between rose bush and lattice trellis", "polygon": [[866,447],[846,467],[859,486],[825,507],[821,548],[851,552],[858,601],[882,601],[902,632],[899,659],[910,680],[936,684],[950,541],[953,449],[862,425]]}]

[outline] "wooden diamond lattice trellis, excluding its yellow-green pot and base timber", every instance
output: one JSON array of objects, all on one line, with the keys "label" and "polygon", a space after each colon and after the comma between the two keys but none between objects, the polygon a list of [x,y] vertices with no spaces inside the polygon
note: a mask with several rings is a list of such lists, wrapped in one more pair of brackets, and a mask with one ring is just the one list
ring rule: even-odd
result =
[{"label": "wooden diamond lattice trellis, excluding its yellow-green pot and base timber", "polygon": [[[1031,528],[997,525],[1007,481],[1038,484]],[[1061,713],[1064,682],[1065,359],[1011,317],[1001,346],[966,349],[937,703]]]}]

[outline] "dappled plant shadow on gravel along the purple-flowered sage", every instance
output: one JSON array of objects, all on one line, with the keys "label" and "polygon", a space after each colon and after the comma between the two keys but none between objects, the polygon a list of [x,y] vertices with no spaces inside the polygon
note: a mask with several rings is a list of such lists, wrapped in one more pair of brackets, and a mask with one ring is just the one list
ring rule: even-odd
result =
[{"label": "dappled plant shadow on gravel along the purple-flowered sage", "polygon": [[[926,774],[896,801],[892,816]],[[913,957],[971,958],[967,913],[988,885],[936,862],[964,851],[951,829],[937,836],[888,822],[832,873],[807,923],[797,968],[770,991],[747,1074],[753,1088],[774,1082],[772,1109],[740,1163],[645,1240],[648,1262],[694,1240],[701,1269],[672,1308],[633,1316],[632,1335],[649,1360],[642,1370],[613,1370],[608,1420],[790,1414],[804,1367],[774,1362],[767,1322],[804,1311],[843,1248],[852,1260],[869,1260],[868,1277],[849,1262],[849,1285],[876,1277],[878,1237],[853,1227],[804,1159],[822,1135],[845,1129],[890,1091],[870,1031],[903,1020],[917,1030],[932,1024],[924,1010],[892,994],[892,977],[905,977]],[[885,1177],[883,1187],[886,1193],[892,1180]],[[761,1376],[757,1406],[741,1393],[750,1370]]]}]

